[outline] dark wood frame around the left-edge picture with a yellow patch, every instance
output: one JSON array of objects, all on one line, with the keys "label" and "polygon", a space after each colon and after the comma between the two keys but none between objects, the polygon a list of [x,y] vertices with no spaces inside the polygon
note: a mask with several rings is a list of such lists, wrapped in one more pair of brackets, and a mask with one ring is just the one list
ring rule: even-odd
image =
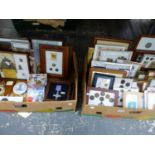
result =
[{"label": "dark wood frame around the left-edge picture with a yellow patch", "polygon": [[[0,54],[1,53],[12,54],[12,55],[14,55],[14,54],[26,55],[27,62],[28,62],[27,66],[28,66],[29,74],[31,73],[31,67],[30,67],[30,61],[29,61],[29,57],[30,57],[31,53],[29,53],[29,52],[14,52],[14,51],[5,51],[5,50],[2,51],[2,50],[0,50]],[[13,79],[13,78],[11,78],[11,79]],[[18,80],[20,80],[20,79],[18,79]],[[21,79],[21,80],[23,80],[23,79]]]}]

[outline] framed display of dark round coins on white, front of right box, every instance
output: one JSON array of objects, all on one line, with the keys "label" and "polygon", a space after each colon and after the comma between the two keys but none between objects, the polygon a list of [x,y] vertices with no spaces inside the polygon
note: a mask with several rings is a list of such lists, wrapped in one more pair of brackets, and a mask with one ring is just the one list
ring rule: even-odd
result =
[{"label": "framed display of dark round coins on white, front of right box", "polygon": [[92,106],[117,106],[118,91],[100,89],[100,88],[87,88],[87,104]]}]

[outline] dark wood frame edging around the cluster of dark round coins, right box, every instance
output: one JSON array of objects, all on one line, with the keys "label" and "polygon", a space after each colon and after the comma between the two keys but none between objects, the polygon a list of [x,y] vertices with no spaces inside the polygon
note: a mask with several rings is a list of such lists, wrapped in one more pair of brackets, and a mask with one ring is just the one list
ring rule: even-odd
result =
[{"label": "dark wood frame edging around the cluster of dark round coins, right box", "polygon": [[[87,93],[89,93],[90,90],[96,90],[96,91],[101,91],[101,92],[109,92],[115,94],[114,98],[114,106],[118,106],[118,97],[119,97],[119,92],[116,90],[110,90],[110,89],[101,89],[101,88],[94,88],[94,87],[87,87]],[[86,95],[86,103],[88,104],[88,96]]]}]

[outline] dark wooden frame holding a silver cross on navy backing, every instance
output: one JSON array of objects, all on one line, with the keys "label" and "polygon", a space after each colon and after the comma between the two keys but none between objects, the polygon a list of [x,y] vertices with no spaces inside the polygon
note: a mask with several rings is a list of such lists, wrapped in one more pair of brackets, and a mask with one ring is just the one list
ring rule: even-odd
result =
[{"label": "dark wooden frame holding a silver cross on navy backing", "polygon": [[[60,80],[54,80],[54,79],[48,79],[48,85],[46,87],[46,91],[45,91],[45,100],[54,100],[54,99],[50,99],[49,98],[49,93],[53,93],[54,91],[51,91],[51,85],[58,85],[59,87],[61,87],[61,89],[63,89],[62,87],[65,86],[66,87],[66,92],[67,94],[65,95],[65,99],[64,100],[69,100],[70,99],[70,94],[71,94],[71,85],[70,85],[70,81],[60,81]],[[60,89],[60,88],[56,88],[56,89]],[[55,95],[55,100],[61,101],[59,99],[59,97],[61,97],[61,95],[64,95],[59,93],[60,90],[55,90],[57,91],[56,94],[53,94],[53,96]]]}]

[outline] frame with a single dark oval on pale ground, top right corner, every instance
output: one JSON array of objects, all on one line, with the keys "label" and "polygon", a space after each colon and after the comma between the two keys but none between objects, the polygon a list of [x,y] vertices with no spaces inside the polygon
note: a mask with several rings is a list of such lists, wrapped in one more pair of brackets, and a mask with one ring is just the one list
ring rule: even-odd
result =
[{"label": "frame with a single dark oval on pale ground, top right corner", "polygon": [[136,52],[155,52],[155,36],[141,36],[136,46]]}]

